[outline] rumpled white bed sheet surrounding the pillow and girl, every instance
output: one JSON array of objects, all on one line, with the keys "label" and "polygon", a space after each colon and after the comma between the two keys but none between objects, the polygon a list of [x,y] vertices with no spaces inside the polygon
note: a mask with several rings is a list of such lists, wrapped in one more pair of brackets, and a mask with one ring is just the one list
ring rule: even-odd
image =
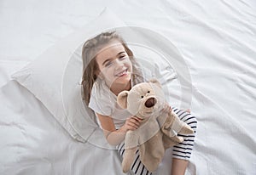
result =
[{"label": "rumpled white bed sheet surrounding the pillow and girl", "polygon": [[199,121],[187,174],[256,174],[256,3],[249,0],[2,0],[0,174],[121,173],[113,150],[73,140],[43,104],[10,81],[104,7],[127,25],[167,37],[187,62]]}]

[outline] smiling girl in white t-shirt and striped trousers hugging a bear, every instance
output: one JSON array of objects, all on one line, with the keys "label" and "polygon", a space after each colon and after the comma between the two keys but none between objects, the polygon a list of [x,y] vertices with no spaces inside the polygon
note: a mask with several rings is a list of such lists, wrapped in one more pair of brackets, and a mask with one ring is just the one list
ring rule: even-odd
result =
[{"label": "smiling girl in white t-shirt and striped trousers hugging a bear", "polygon": [[[137,116],[131,116],[127,110],[121,109],[116,99],[121,91],[130,90],[133,85],[144,82],[143,72],[131,49],[114,31],[103,32],[84,42],[82,57],[85,104],[95,111],[108,143],[117,145],[120,155],[123,155],[125,133],[136,130],[141,121]],[[172,108],[166,105],[163,110]],[[195,116],[183,110],[173,110],[195,130]],[[172,175],[185,173],[191,155],[195,133],[183,137],[184,142],[173,148]],[[138,152],[131,171],[135,174],[149,174],[139,161]]]}]

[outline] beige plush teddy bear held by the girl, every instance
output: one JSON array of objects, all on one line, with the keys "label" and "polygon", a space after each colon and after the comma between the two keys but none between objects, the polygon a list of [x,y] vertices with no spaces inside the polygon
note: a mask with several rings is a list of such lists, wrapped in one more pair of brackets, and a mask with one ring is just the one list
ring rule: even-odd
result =
[{"label": "beige plush teddy bear held by the girl", "polygon": [[117,103],[131,115],[142,119],[137,130],[129,130],[125,134],[123,172],[130,170],[137,149],[143,165],[149,172],[154,172],[166,149],[183,142],[183,138],[177,136],[177,133],[194,132],[173,111],[162,110],[166,104],[165,94],[156,79],[138,83],[130,91],[122,91],[117,97]]}]

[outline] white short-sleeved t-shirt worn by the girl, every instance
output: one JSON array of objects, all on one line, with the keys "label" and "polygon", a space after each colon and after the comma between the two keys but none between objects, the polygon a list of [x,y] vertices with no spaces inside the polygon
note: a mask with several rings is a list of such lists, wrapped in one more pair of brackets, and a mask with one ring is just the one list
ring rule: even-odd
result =
[{"label": "white short-sleeved t-shirt worn by the girl", "polygon": [[[117,104],[117,96],[110,91],[106,82],[99,78],[91,89],[89,107],[98,114],[113,117],[116,128],[122,127],[126,118],[132,116],[128,110]],[[99,125],[101,126],[100,122]]]}]

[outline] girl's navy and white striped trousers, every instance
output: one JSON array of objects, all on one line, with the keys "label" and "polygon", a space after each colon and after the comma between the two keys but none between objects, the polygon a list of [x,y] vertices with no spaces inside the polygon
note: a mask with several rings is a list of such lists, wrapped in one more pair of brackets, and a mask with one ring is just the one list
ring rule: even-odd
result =
[{"label": "girl's navy and white striped trousers", "polygon": [[[187,123],[189,127],[191,127],[194,130],[194,133],[189,135],[178,134],[178,136],[182,136],[184,138],[184,141],[180,144],[173,146],[172,157],[177,159],[189,160],[193,150],[194,140],[195,140],[196,126],[197,126],[196,118],[195,116],[193,116],[192,114],[190,114],[185,110],[178,110],[177,108],[172,108],[172,110],[177,114],[180,120]],[[125,147],[124,143],[119,144],[117,146],[119,154],[122,157],[125,153],[124,147]],[[153,175],[154,174],[154,172],[148,172],[146,167],[143,166],[139,158],[138,150],[136,153],[135,161],[131,166],[131,172],[133,172],[135,175]]]}]

